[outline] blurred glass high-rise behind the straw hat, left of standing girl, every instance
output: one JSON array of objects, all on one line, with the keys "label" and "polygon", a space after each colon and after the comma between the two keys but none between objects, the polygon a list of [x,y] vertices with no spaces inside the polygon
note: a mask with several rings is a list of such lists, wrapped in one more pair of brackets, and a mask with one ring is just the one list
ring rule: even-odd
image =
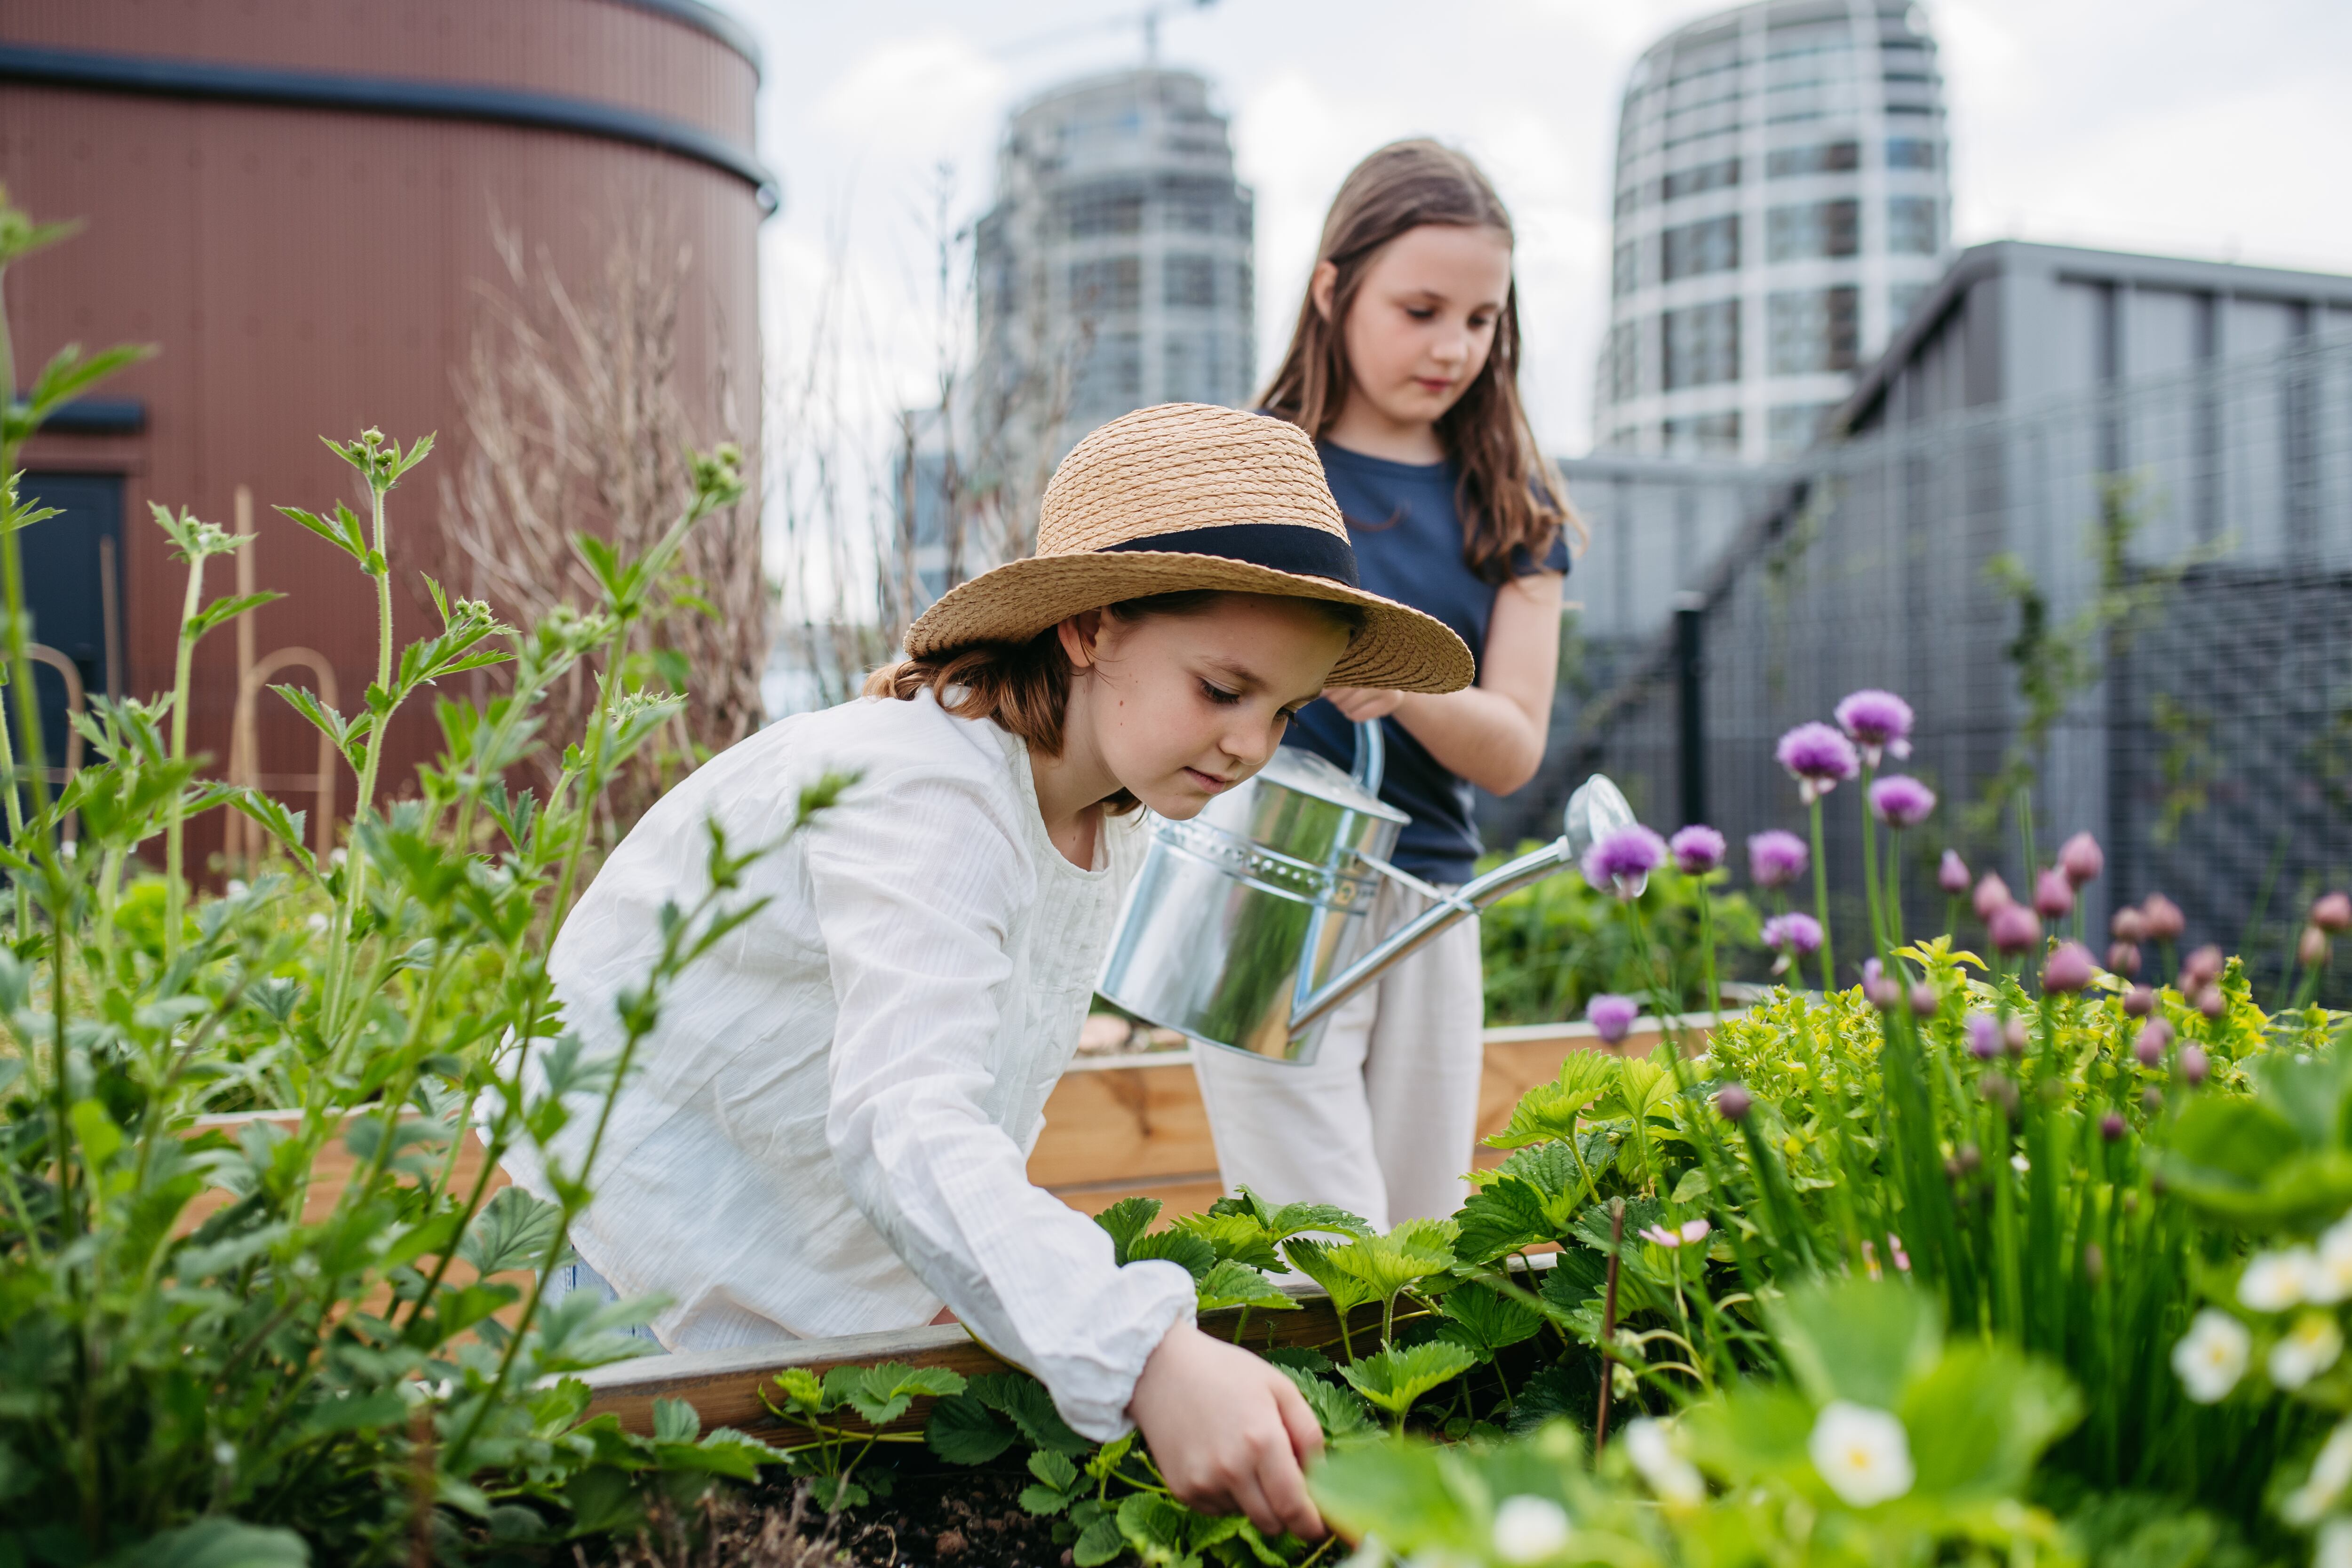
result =
[{"label": "blurred glass high-rise behind the straw hat, left of standing girl", "polygon": [[1014,465],[1051,470],[1145,404],[1242,404],[1251,235],[1200,75],[1117,71],[1014,110],[976,256],[976,404]]}]

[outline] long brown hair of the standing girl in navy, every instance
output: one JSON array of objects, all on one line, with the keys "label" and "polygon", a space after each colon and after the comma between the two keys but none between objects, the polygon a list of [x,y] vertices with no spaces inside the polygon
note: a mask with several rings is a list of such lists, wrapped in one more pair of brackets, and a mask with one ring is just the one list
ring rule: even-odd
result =
[{"label": "long brown hair of the standing girl in navy", "polygon": [[[1512,237],[1510,212],[1463,153],[1437,141],[1392,141],[1359,162],[1331,197],[1317,266],[1338,268],[1331,315],[1315,308],[1315,292],[1298,306],[1298,327],[1282,355],[1282,369],[1258,395],[1258,407],[1279,414],[1315,440],[1338,421],[1348,402],[1348,310],[1371,259],[1390,240],[1423,223],[1498,228]],[[1461,463],[1456,510],[1463,515],[1463,562],[1489,583],[1512,574],[1512,555],[1526,550],[1543,562],[1559,529],[1583,548],[1583,520],[1569,505],[1569,487],[1543,456],[1519,407],[1519,284],[1503,296],[1494,348],[1470,388],[1437,418],[1437,440]]]}]

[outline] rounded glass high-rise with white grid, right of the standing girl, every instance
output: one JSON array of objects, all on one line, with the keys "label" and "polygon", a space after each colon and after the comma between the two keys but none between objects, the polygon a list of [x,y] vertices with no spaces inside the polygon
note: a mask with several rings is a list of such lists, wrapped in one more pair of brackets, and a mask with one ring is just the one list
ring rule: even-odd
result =
[{"label": "rounded glass high-rise with white grid, right of the standing girl", "polygon": [[1759,0],[1668,33],[1618,113],[1595,447],[1806,447],[1943,273],[1950,216],[1919,5]]}]

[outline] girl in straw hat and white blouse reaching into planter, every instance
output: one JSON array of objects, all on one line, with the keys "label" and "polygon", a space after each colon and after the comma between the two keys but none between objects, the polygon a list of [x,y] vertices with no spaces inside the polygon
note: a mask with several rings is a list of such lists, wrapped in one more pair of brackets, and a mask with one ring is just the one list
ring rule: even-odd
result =
[{"label": "girl in straw hat and white blouse reaching into planter", "polygon": [[[946,1307],[1077,1432],[1141,1427],[1188,1502],[1315,1535],[1298,1467],[1319,1432],[1298,1392],[1192,1326],[1183,1267],[1117,1267],[1025,1159],[1141,858],[1136,806],[1190,818],[1327,684],[1454,691],[1470,651],[1357,585],[1301,430],[1167,404],[1080,442],[1037,555],[948,592],[906,654],[861,701],[699,769],[564,924],[564,1018],[612,1053],[659,910],[701,893],[706,820],[767,844],[802,785],[856,776],[755,863],[746,891],[767,905],[637,1046],[572,1232],[574,1288],[668,1298],[652,1319],[668,1349]],[[508,1166],[546,1192],[532,1159]]]}]

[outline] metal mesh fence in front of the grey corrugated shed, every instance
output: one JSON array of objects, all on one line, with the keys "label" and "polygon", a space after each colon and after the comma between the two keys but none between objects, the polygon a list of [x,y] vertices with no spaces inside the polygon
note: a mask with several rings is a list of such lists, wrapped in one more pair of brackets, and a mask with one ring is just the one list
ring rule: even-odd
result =
[{"label": "metal mesh fence in front of the grey corrugated shed", "polygon": [[[2307,898],[2352,879],[2352,341],[1813,451],[1682,618],[1583,703],[1548,795],[1599,769],[1658,827],[1802,832],[1776,738],[1886,686],[1919,712],[1889,766],[1943,799],[1905,835],[1915,926],[1943,924],[1945,846],[2023,889],[2027,842],[2089,830],[2093,938],[2164,891],[2274,990]],[[1842,936],[1858,813],[1828,802]]]}]

